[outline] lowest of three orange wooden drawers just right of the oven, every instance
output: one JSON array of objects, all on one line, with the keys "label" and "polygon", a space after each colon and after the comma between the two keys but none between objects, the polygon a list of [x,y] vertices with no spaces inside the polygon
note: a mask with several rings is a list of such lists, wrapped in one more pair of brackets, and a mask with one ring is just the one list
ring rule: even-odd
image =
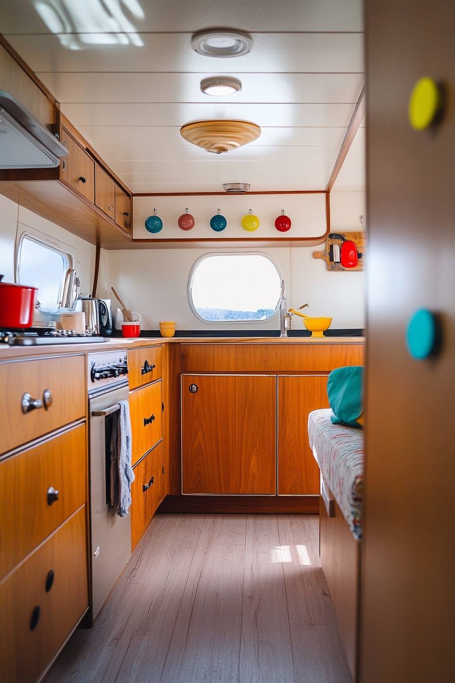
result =
[{"label": "lowest of three orange wooden drawers just right of the oven", "polygon": [[[134,468],[131,485],[131,549],[143,535],[163,497],[162,443]],[[144,490],[144,487],[145,490]]]}]

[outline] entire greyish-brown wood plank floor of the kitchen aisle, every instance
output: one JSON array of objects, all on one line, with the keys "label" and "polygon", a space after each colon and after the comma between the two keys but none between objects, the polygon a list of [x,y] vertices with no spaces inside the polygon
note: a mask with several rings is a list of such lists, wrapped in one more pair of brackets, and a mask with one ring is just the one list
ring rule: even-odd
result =
[{"label": "entire greyish-brown wood plank floor of the kitchen aisle", "polygon": [[351,683],[318,518],[156,516],[57,682]]}]

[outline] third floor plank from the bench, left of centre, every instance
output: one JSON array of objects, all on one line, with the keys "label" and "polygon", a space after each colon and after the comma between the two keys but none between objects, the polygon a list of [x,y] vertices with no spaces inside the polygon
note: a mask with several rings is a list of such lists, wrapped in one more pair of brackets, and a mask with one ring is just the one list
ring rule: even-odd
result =
[{"label": "third floor plank from the bench, left of centre", "polygon": [[205,516],[160,683],[237,683],[245,544],[246,516]]}]

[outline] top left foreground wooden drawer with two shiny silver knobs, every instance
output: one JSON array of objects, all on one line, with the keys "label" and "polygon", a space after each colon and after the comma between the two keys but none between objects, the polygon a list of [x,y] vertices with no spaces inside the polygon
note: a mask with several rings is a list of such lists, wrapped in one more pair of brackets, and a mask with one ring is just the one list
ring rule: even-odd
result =
[{"label": "top left foreground wooden drawer with two shiny silver knobs", "polygon": [[[5,388],[0,412],[1,453],[85,416],[83,356],[0,363],[0,387]],[[46,389],[52,393],[52,405],[24,414],[23,395],[42,400]]]}]

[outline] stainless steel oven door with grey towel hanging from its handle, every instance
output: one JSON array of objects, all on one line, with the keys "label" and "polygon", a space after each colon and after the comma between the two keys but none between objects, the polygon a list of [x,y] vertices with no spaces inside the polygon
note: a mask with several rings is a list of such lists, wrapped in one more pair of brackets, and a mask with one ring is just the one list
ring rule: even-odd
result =
[{"label": "stainless steel oven door with grey towel hanging from its handle", "polygon": [[[115,404],[129,397],[128,380],[89,399],[90,410],[90,516],[93,619],[100,612],[131,555],[131,516],[119,517],[110,504],[108,454],[111,415]],[[113,410],[114,409],[114,410]],[[102,415],[93,415],[102,413]]]}]

